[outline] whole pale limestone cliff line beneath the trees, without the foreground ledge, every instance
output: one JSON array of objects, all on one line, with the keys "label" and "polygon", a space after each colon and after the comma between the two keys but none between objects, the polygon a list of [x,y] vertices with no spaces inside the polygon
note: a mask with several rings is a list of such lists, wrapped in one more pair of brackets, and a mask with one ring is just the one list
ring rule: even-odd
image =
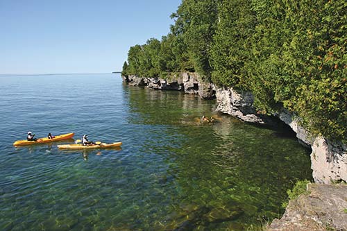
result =
[{"label": "whole pale limestone cliff line beneath the trees, without the foreground ledge", "polygon": [[[198,94],[202,99],[217,99],[217,111],[251,123],[271,123],[271,117],[257,113],[253,108],[251,92],[237,92],[232,87],[217,87],[204,83],[196,73],[184,72],[168,79],[122,76],[124,82],[133,86],[147,86],[151,89],[177,90],[186,94]],[[331,184],[347,182],[347,146],[330,141],[325,137],[313,137],[298,125],[300,118],[282,109],[278,114],[296,132],[298,141],[312,148],[312,175],[315,182]]]}]

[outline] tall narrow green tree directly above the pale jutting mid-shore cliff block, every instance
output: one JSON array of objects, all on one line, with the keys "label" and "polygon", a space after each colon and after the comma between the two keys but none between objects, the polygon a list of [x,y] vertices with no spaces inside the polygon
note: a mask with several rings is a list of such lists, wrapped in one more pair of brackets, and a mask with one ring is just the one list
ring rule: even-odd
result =
[{"label": "tall narrow green tree directly above the pale jutting mid-shore cliff block", "polygon": [[218,85],[247,88],[250,39],[255,15],[250,0],[221,1],[211,49],[212,80]]}]

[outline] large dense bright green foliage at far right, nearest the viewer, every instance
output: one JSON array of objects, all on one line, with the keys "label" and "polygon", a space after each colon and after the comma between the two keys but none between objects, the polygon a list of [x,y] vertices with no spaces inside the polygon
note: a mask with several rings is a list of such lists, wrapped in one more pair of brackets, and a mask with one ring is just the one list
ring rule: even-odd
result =
[{"label": "large dense bright green foliage at far right, nearest the viewer", "polygon": [[257,107],[283,104],[314,135],[346,139],[346,1],[264,0],[253,10],[246,69]]}]

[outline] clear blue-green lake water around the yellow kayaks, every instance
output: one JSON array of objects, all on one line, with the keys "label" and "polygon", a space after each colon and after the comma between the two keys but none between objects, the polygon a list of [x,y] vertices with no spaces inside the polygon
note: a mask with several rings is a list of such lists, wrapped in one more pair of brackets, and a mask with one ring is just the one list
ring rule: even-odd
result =
[{"label": "clear blue-green lake water around the yellow kayaks", "polygon": [[[311,178],[310,151],[283,126],[214,107],[119,74],[0,76],[0,230],[257,230]],[[202,114],[217,123],[198,123]],[[12,146],[28,130],[123,145]]]}]

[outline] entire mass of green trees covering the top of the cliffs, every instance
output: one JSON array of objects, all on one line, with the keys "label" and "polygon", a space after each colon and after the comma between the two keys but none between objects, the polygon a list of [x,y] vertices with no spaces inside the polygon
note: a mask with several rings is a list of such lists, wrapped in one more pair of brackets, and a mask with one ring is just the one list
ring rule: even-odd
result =
[{"label": "entire mass of green trees covering the top of the cliffs", "polygon": [[347,139],[347,1],[183,0],[162,40],[130,47],[125,74],[196,71],[287,108],[314,135]]}]

